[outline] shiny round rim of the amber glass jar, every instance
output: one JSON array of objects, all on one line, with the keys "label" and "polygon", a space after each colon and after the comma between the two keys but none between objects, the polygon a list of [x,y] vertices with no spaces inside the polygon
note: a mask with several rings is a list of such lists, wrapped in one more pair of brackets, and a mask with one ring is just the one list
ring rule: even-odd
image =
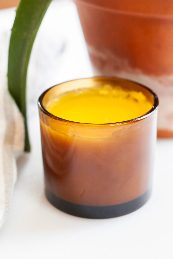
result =
[{"label": "shiny round rim of the amber glass jar", "polygon": [[[153,100],[154,100],[154,103],[153,103],[153,106],[152,108],[142,114],[141,116],[137,117],[137,118],[134,118],[134,119],[130,119],[130,120],[125,120],[125,121],[120,121],[120,122],[115,122],[115,123],[83,123],[83,122],[76,122],[76,121],[71,121],[71,120],[66,120],[66,119],[63,119],[63,118],[60,118],[60,117],[57,117],[55,116],[54,114],[50,113],[48,110],[46,110],[46,108],[44,107],[43,105],[43,98],[45,96],[45,94],[51,90],[53,87],[56,87],[58,85],[62,85],[62,84],[65,84],[65,83],[68,83],[68,82],[73,82],[73,81],[79,81],[79,80],[87,80],[87,79],[92,79],[92,80],[119,80],[120,82],[123,81],[123,82],[130,82],[130,83],[135,83],[137,85],[139,85],[140,87],[142,88],[145,88],[146,90],[148,90],[151,94],[151,96],[153,97]],[[62,83],[59,83],[59,84],[56,84],[50,88],[48,88],[47,90],[45,90],[41,95],[40,97],[38,98],[38,107],[41,109],[42,112],[44,112],[48,117],[54,119],[54,120],[57,120],[57,121],[60,121],[60,122],[64,122],[66,124],[73,124],[73,125],[78,125],[78,126],[90,126],[90,127],[111,127],[111,126],[120,126],[120,125],[124,125],[124,124],[131,124],[131,123],[135,123],[137,121],[140,121],[140,120],[143,120],[147,117],[149,117],[151,114],[153,114],[157,109],[158,109],[158,106],[159,106],[159,99],[157,97],[157,95],[148,87],[144,86],[143,84],[140,84],[140,83],[137,83],[135,81],[132,81],[132,80],[126,80],[126,79],[122,79],[122,78],[118,78],[118,77],[109,77],[109,76],[94,76],[94,77],[87,77],[87,78],[80,78],[80,79],[74,79],[74,80],[69,80],[69,81],[65,81],[65,82],[62,82]]]}]

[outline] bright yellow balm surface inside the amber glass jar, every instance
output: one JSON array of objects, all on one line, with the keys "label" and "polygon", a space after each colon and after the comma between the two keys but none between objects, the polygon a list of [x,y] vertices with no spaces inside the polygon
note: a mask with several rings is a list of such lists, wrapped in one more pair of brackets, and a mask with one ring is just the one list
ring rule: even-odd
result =
[{"label": "bright yellow balm surface inside the amber glass jar", "polygon": [[53,115],[81,123],[116,123],[137,118],[152,108],[142,92],[120,86],[85,88],[50,100],[45,107]]}]

